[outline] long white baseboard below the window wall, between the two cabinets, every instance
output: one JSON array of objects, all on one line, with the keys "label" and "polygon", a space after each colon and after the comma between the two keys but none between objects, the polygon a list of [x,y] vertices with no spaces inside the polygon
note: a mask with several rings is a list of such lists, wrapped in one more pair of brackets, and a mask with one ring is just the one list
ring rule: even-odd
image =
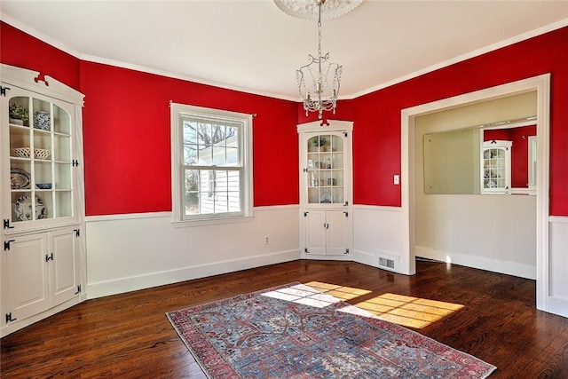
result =
[{"label": "long white baseboard below the window wall, between the two cabinets", "polygon": [[195,265],[165,272],[152,272],[130,278],[107,280],[87,285],[89,299],[121,294],[138,289],[162,286],[179,281],[205,278],[227,272],[236,272],[264,265],[274,265],[300,258],[299,250],[280,251],[256,257],[227,260],[207,265]]}]

